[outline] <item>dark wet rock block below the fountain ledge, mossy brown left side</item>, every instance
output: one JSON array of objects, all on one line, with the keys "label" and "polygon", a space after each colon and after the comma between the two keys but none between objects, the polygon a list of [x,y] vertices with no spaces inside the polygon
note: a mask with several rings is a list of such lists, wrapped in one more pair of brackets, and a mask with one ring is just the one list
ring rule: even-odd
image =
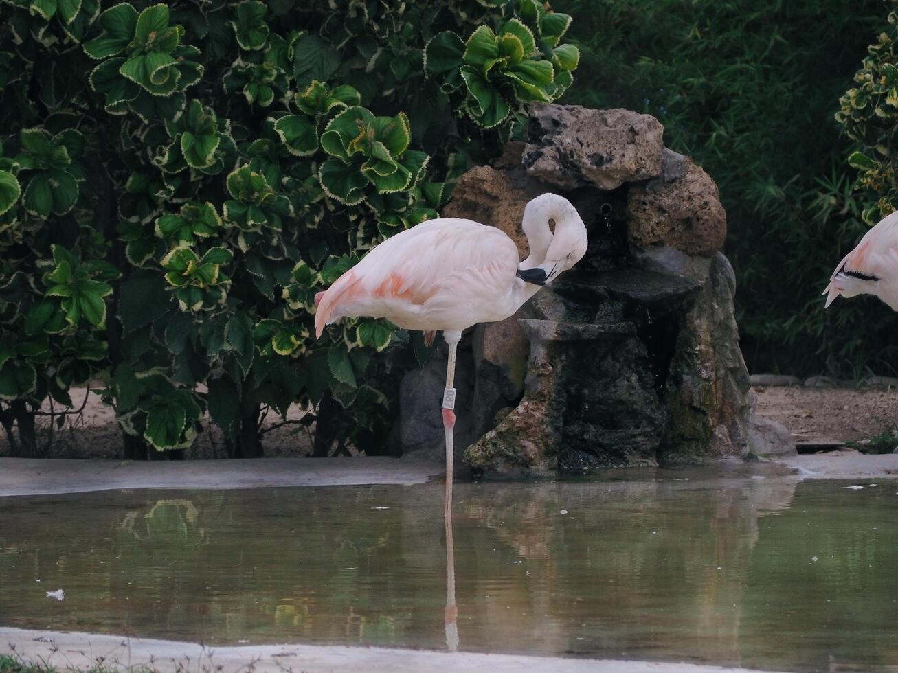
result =
[{"label": "dark wet rock block below the fountain ledge, mossy brown left side", "polygon": [[521,323],[531,344],[524,398],[465,461],[513,476],[656,465],[665,410],[633,326]]}]

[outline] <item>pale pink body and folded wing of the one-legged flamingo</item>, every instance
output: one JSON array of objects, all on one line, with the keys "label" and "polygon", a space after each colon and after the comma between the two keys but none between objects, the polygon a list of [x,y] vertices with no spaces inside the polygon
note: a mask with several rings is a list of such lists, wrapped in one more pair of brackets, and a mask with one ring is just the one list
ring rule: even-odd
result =
[{"label": "pale pink body and folded wing of the one-legged flamingo", "polygon": [[341,316],[387,318],[407,329],[462,329],[515,282],[517,247],[494,227],[441,218],[372,249],[321,295],[315,333]]}]

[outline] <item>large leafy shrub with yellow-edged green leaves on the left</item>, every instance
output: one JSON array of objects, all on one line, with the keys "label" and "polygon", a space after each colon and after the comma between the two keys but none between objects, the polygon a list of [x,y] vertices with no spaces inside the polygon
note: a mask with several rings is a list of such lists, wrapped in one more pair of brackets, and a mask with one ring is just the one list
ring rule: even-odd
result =
[{"label": "large leafy shrub with yellow-edged green leaves on the left", "polygon": [[373,319],[316,341],[314,295],[565,91],[570,21],[534,0],[0,3],[0,421],[22,452],[43,400],[98,377],[130,455],[189,446],[206,410],[259,455],[260,414],[297,402],[316,452],[382,450],[427,349]]}]

